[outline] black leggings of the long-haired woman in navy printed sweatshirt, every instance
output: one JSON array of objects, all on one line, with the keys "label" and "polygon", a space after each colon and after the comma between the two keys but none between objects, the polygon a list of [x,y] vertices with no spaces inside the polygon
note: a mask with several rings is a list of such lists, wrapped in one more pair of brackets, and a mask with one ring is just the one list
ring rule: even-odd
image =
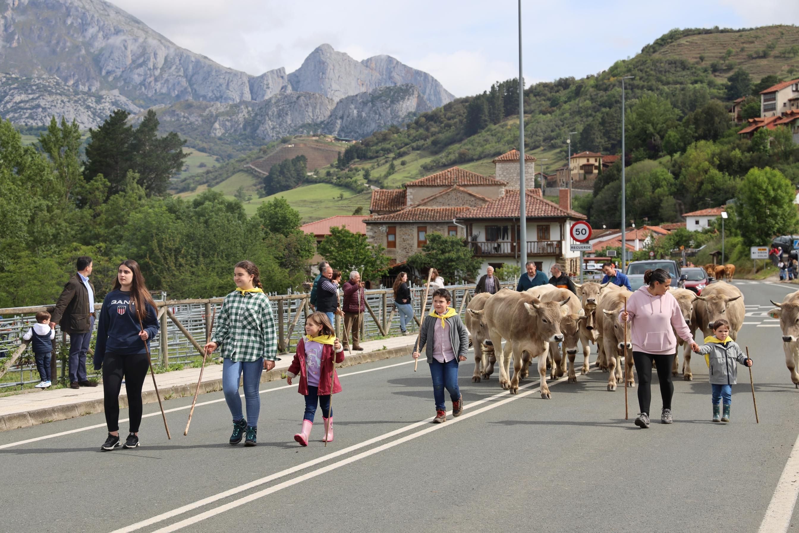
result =
[{"label": "black leggings of the long-haired woman in navy printed sweatshirt", "polygon": [[145,384],[149,361],[146,353],[106,353],[102,363],[102,392],[105,403],[105,424],[109,432],[119,431],[119,392],[122,379],[128,392],[130,432],[141,424],[141,386]]}]

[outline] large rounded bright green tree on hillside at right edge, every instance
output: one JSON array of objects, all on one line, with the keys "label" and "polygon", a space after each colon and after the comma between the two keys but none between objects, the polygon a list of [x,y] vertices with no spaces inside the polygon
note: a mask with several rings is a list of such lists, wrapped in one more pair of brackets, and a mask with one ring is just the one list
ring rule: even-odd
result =
[{"label": "large rounded bright green tree on hillside at right edge", "polygon": [[778,170],[751,169],[732,206],[733,225],[745,246],[766,245],[776,235],[796,233],[796,190]]}]

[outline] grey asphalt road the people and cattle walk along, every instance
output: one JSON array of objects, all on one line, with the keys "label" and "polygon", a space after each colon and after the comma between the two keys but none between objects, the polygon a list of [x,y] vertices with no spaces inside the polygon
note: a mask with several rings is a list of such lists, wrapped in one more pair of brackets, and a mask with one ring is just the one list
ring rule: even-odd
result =
[{"label": "grey asphalt road the people and cattle walk along", "polygon": [[765,316],[791,288],[740,288],[749,316],[738,342],[755,361],[760,424],[742,367],[732,422],[710,422],[701,358],[693,382],[675,381],[670,426],[632,424],[637,388],[624,420],[624,389],[607,392],[596,370],[550,382],[542,400],[536,380],[518,396],[496,373],[471,383],[471,360],[460,369],[463,416],[431,424],[427,364],[414,373],[384,360],[340,372],[328,447],[322,424],[308,447],[292,439],[304,403],[285,382],[261,389],[254,448],[227,444],[221,393],[200,396],[189,436],[191,399],[165,401],[172,440],[157,404],[145,405],[157,416],[143,420],[135,450],[99,451],[101,414],[2,432],[0,531],[758,531],[799,434],[799,390]]}]

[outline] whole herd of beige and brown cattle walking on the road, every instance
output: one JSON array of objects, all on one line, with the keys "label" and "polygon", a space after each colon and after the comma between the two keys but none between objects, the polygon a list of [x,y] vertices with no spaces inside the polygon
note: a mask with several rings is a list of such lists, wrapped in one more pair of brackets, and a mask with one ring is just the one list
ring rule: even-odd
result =
[{"label": "whole herd of beige and brown cattle walking on the road", "polygon": [[[733,274],[734,267],[729,276]],[[630,323],[623,325],[618,321],[618,315],[632,292],[614,284],[593,282],[577,284],[576,287],[576,296],[565,288],[542,285],[526,292],[503,288],[493,296],[483,292],[472,298],[467,305],[465,320],[475,347],[475,373],[472,380],[487,380],[494,372],[496,362],[499,363],[499,384],[509,389],[511,394],[516,394],[519,392],[519,380],[528,375],[531,359],[537,358],[541,397],[550,399],[547,362],[551,364],[551,379],[567,372],[569,383],[577,383],[574,358],[579,342],[584,358],[582,374],[589,372],[588,357],[590,344],[593,343],[597,344],[598,368],[609,374],[607,390],[615,391],[622,379],[634,387]],[[703,336],[712,335],[711,324],[714,320],[725,318],[730,324],[729,335],[733,340],[737,339],[744,322],[745,306],[741,291],[733,284],[717,281],[708,285],[702,291],[702,296],[686,288],[673,288],[670,293],[677,299],[682,317],[694,336],[698,330],[702,331]],[[786,361],[791,379],[799,387],[799,291],[786,297],[782,304],[775,305],[777,308],[771,313],[780,316],[783,340],[789,339],[785,341]],[[685,380],[691,380],[690,347],[682,342],[676,332],[675,336],[683,346],[682,376]],[[625,342],[630,354],[626,357],[626,378],[622,376],[621,369]],[[562,345],[562,352],[558,349],[558,343]],[[512,378],[511,356],[514,368]],[[675,357],[672,368],[674,376],[678,375],[678,370],[678,357]]]}]

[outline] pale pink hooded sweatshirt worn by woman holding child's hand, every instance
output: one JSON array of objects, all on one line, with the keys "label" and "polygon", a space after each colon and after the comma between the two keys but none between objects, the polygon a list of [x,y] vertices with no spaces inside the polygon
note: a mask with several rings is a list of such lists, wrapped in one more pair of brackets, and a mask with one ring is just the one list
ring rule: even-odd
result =
[{"label": "pale pink hooded sweatshirt worn by woman holding child's hand", "polygon": [[687,343],[694,342],[694,336],[682,317],[680,305],[670,292],[653,296],[643,285],[627,300],[627,312],[632,320],[630,328],[634,352],[655,355],[675,353],[677,337],[674,332]]}]

